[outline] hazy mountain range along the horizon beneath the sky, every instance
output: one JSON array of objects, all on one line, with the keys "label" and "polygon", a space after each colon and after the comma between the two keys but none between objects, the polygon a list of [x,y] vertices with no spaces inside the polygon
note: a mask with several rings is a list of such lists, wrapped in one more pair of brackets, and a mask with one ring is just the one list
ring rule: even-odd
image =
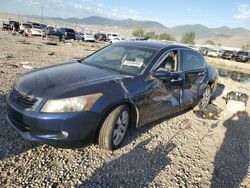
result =
[{"label": "hazy mountain range along the horizon beneath the sky", "polygon": [[176,27],[167,27],[155,21],[138,21],[133,19],[115,20],[99,16],[91,16],[86,18],[50,18],[57,21],[64,21],[69,23],[78,23],[84,25],[99,25],[118,27],[121,29],[136,29],[142,28],[146,32],[154,31],[156,33],[169,33],[177,40],[187,32],[195,32],[196,43],[204,44],[207,40],[213,40],[216,44],[241,47],[246,43],[250,43],[250,30],[244,28],[229,28],[227,26],[218,28],[208,28],[206,26],[195,25],[181,25]]}]

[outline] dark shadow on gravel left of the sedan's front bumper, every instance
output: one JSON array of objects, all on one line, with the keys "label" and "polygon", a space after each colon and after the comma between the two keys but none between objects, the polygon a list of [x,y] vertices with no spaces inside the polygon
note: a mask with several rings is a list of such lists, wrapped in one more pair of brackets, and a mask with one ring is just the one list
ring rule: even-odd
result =
[{"label": "dark shadow on gravel left of the sedan's front bumper", "polygon": [[6,94],[0,91],[0,160],[23,153],[37,146],[24,140],[6,121]]}]

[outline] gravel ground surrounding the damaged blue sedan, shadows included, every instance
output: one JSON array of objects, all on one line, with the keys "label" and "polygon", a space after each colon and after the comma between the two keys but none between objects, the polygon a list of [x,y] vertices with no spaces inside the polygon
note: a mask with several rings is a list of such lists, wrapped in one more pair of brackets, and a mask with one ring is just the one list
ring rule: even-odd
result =
[{"label": "gravel ground surrounding the damaged blue sedan, shadows included", "polygon": [[[105,44],[45,44],[0,31],[0,187],[249,187],[250,105],[227,111],[221,93],[249,85],[220,79],[219,117],[187,110],[129,131],[123,147],[58,149],[22,139],[6,122],[5,94],[28,71],[82,58]],[[53,53],[52,53],[53,52]]]}]

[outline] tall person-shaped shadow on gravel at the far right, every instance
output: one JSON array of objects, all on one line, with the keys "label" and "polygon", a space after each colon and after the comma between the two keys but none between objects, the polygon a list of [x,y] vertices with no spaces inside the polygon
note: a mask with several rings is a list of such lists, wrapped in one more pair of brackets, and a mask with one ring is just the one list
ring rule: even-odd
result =
[{"label": "tall person-shaped shadow on gravel at the far right", "polygon": [[214,160],[211,187],[239,187],[248,174],[250,161],[250,117],[237,112],[224,122],[227,129]]}]

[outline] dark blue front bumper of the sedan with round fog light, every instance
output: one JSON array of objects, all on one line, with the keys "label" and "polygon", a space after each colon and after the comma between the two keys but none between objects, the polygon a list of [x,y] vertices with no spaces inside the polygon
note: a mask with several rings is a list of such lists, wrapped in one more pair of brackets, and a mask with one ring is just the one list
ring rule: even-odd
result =
[{"label": "dark blue front bumper of the sedan with round fog light", "polygon": [[61,114],[26,111],[7,96],[6,119],[25,139],[71,148],[93,143],[101,115],[89,111]]}]

